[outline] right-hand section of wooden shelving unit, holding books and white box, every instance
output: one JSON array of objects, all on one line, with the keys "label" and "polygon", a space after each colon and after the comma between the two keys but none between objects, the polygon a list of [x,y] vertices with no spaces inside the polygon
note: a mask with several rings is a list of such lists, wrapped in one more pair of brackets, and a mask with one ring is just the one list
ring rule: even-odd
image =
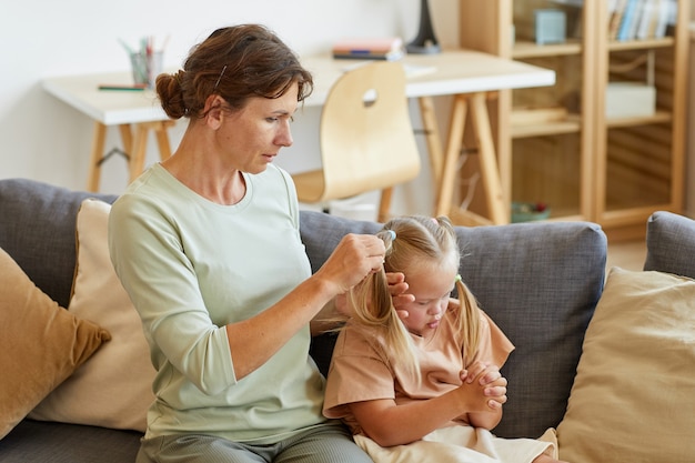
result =
[{"label": "right-hand section of wooden shelving unit, holding books and white box", "polygon": [[[642,118],[596,114],[595,221],[615,235],[644,233],[656,210],[683,212],[687,114],[689,0],[678,0],[674,27],[662,39],[613,41],[598,29],[598,107],[610,81],[644,81],[656,88],[656,111]],[[597,21],[608,20],[598,9]],[[625,63],[639,63],[615,71]],[[629,69],[629,66],[627,66]],[[651,74],[651,76],[649,76]]]}]

